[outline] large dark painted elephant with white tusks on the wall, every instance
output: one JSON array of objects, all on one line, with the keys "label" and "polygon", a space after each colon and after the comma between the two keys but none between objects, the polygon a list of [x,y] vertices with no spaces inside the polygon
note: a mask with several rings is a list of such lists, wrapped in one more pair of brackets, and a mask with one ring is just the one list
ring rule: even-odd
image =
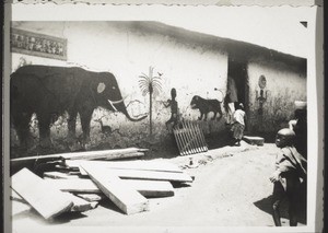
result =
[{"label": "large dark painted elephant with white tusks on the wall", "polygon": [[11,119],[22,145],[26,145],[30,120],[36,114],[40,143],[50,142],[50,124],[69,114],[68,138],[75,137],[80,114],[84,141],[90,140],[90,121],[96,107],[120,112],[129,120],[116,78],[109,72],[92,72],[78,67],[25,66],[11,74]]}]

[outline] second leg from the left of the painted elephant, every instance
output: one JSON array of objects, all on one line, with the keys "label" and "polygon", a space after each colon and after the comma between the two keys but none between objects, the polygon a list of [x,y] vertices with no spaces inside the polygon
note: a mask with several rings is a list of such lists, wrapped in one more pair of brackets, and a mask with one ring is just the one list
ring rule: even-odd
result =
[{"label": "second leg from the left of the painted elephant", "polygon": [[39,143],[43,148],[48,148],[51,145],[50,141],[50,114],[37,114],[38,128],[39,128]]}]

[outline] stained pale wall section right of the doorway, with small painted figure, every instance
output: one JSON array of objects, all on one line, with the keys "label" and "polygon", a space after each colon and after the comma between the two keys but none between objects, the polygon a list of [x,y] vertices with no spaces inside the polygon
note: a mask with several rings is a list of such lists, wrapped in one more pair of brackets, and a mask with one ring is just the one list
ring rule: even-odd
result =
[{"label": "stained pale wall section right of the doorway, with small painted figure", "polygon": [[[267,81],[262,96],[260,75],[266,77]],[[295,110],[294,101],[306,101],[306,73],[292,71],[279,62],[251,61],[248,63],[248,77],[249,130],[277,132],[288,127],[288,121],[293,118]]]}]

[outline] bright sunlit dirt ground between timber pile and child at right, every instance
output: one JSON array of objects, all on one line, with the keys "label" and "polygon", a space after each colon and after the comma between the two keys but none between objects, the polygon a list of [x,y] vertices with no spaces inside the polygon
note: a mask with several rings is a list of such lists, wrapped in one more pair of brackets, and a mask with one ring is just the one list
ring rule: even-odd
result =
[{"label": "bright sunlit dirt ground between timber pile and child at right", "polygon": [[[202,154],[164,159],[184,167],[191,158],[197,167],[185,171],[195,180],[175,187],[173,197],[150,199],[150,211],[126,215],[106,200],[94,210],[63,214],[52,222],[44,221],[35,212],[25,212],[13,218],[13,229],[24,232],[43,225],[273,226],[269,175],[274,168],[277,151],[273,143],[257,147],[243,141],[242,147],[226,145]],[[282,217],[282,224],[289,225],[286,211]],[[304,225],[304,210],[298,225]]]}]

